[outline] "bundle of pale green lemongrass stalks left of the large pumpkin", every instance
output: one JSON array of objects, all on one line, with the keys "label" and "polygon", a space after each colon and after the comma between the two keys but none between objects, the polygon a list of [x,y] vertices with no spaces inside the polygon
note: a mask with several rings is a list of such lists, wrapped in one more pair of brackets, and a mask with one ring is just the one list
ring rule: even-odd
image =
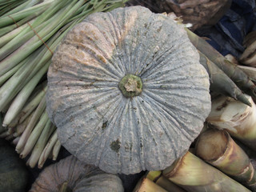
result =
[{"label": "bundle of pale green lemongrass stalks left of the large pumpkin", "polygon": [[41,168],[61,148],[46,114],[46,72],[63,36],[87,15],[127,0],[0,0],[0,138]]}]

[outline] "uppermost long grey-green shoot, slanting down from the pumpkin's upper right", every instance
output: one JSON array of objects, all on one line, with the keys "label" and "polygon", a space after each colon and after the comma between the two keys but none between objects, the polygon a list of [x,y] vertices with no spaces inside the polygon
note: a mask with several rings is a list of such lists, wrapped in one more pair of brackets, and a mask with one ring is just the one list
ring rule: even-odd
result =
[{"label": "uppermost long grey-green shoot, slanting down from the pumpkin's upper right", "polygon": [[222,54],[215,50],[213,46],[210,46],[210,44],[203,38],[198,37],[197,34],[194,34],[188,29],[186,29],[186,32],[190,38],[190,42],[192,42],[202,54],[205,54],[210,61],[214,62],[220,69],[222,69],[241,90],[250,90],[250,94],[254,95],[254,92],[256,92],[254,82],[252,82],[250,78],[238,68],[238,66],[229,62]]}]

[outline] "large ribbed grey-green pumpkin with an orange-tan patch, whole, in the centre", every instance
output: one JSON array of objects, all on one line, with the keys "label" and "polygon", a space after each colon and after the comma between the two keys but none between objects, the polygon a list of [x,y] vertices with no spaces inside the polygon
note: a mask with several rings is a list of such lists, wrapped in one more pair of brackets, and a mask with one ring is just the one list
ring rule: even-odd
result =
[{"label": "large ribbed grey-green pumpkin with an orange-tan patch, whole, in the centre", "polygon": [[210,113],[209,77],[182,26],[142,6],[74,26],[48,71],[47,111],[62,145],[110,173],[162,170]]}]

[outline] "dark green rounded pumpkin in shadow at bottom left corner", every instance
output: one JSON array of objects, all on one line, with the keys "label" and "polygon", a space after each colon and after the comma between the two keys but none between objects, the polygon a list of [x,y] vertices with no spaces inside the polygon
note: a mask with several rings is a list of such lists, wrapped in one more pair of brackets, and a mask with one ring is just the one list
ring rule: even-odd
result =
[{"label": "dark green rounded pumpkin in shadow at bottom left corner", "polygon": [[0,139],[0,191],[26,191],[29,172],[13,146]]}]

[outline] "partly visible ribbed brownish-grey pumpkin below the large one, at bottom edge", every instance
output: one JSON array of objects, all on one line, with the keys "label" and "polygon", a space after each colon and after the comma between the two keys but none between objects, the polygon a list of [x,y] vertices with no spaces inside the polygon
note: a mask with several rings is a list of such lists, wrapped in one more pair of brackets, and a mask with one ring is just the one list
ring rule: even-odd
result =
[{"label": "partly visible ribbed brownish-grey pumpkin below the large one, at bottom edge", "polygon": [[73,155],[47,166],[32,184],[30,192],[122,192],[122,181],[95,166],[80,162]]}]

